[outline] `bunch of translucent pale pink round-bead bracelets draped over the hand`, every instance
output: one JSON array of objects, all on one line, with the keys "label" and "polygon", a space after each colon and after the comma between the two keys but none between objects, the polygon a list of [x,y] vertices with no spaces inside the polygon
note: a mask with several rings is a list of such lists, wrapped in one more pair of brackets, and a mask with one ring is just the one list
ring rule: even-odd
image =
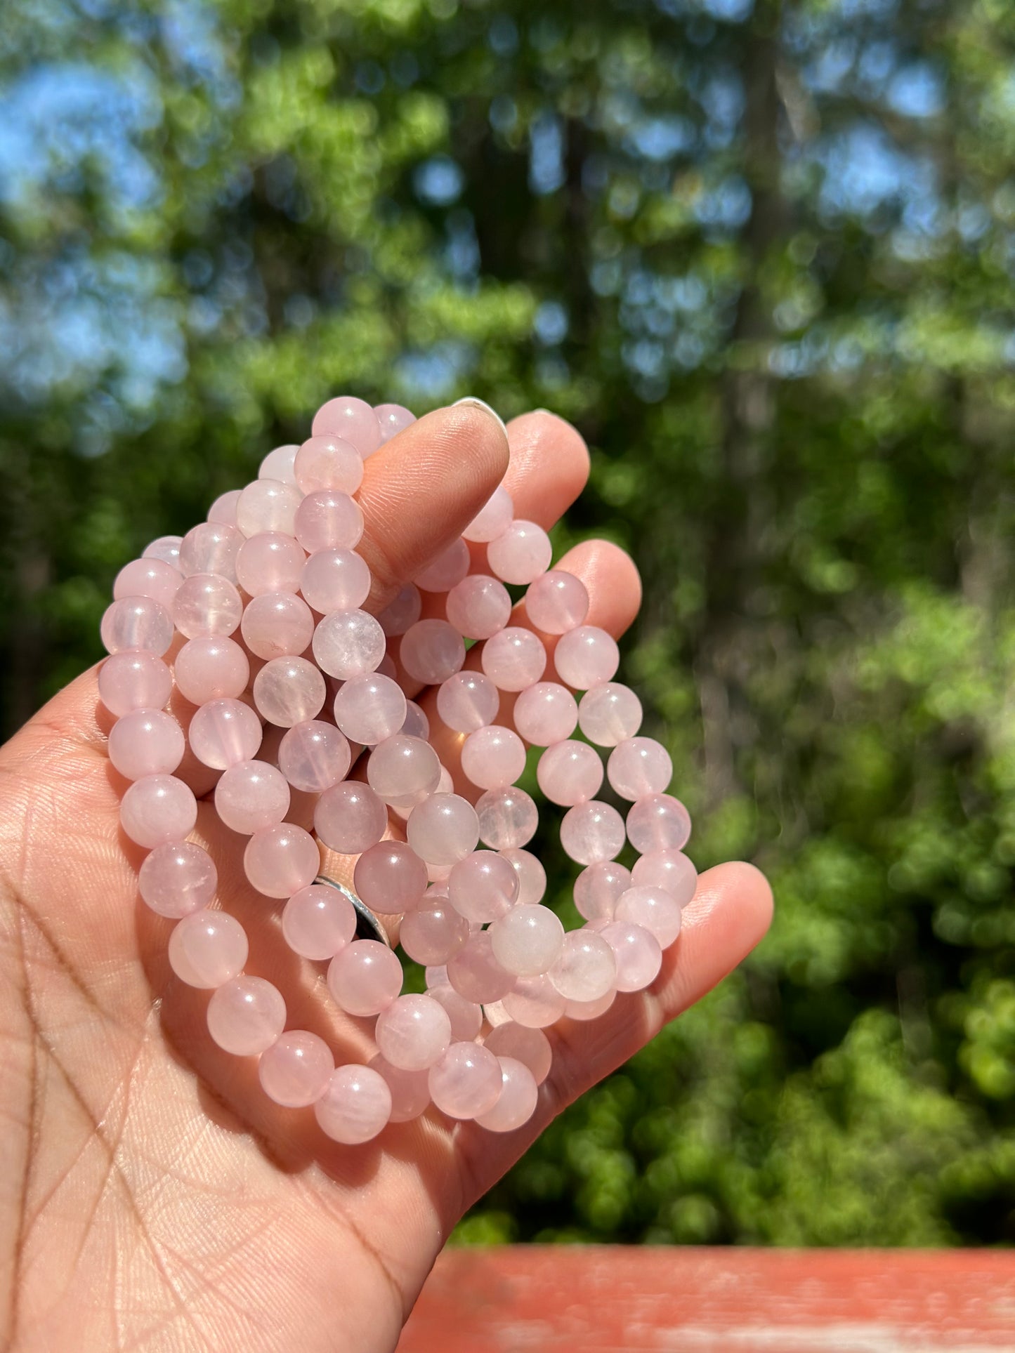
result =
[{"label": "bunch of translucent pale pink round-bead bracelets draped over the hand", "polygon": [[[666,793],[670,756],[637,736],[641,705],[613,681],[617,645],[585,624],[583,583],[549,568],[549,537],[514,520],[503,487],[380,617],[361,609],[371,586],[356,553],[363,463],[413,421],[398,405],[329,400],[309,441],[272,451],[258,479],[215,499],[206,522],[127,564],[102,624],[111,656],[99,693],[116,716],[110,760],[131,781],[120,823],[149,851],[142,898],[176,921],[172,969],[212,992],[215,1043],[260,1058],[265,1093],[313,1105],[345,1143],[430,1104],[493,1131],[525,1123],[551,1065],[543,1031],[564,1016],[595,1019],[618,992],[648,986],[697,878],[682,854],[690,819]],[[512,624],[506,583],[528,589],[524,624]],[[185,643],[171,671],[162,658],[177,630]],[[556,681],[543,679],[544,639]],[[475,805],[453,793],[397,671],[436,687],[463,774],[482,790]],[[165,709],[173,682],[196,706],[187,737]],[[498,723],[505,693],[517,695],[513,727]],[[257,758],[264,724],[286,729],[271,759]],[[198,806],[173,775],[187,743],[221,773],[215,808],[249,838],[250,886],[284,900],[286,942],[328,962],[342,1011],[376,1019],[368,1066],[336,1068],[317,1034],[286,1028],[277,988],[245,971],[242,927],[211,905],[215,863],[187,839]],[[545,748],[539,787],[566,809],[560,842],[583,866],[574,898],[585,924],[570,934],[541,905],[545,873],[525,850],[539,820],[516,787],[526,744]],[[605,774],[631,804],[627,823],[597,798],[597,747],[610,748]],[[351,779],[363,748],[365,781]],[[318,796],[318,840],[359,856],[355,893],[319,875],[318,840],[286,821],[291,787]],[[387,839],[392,815],[405,842]],[[616,862],[625,839],[640,852],[633,870]],[[376,921],[395,916],[403,953],[425,965],[426,994],[399,994],[402,965]]]}]

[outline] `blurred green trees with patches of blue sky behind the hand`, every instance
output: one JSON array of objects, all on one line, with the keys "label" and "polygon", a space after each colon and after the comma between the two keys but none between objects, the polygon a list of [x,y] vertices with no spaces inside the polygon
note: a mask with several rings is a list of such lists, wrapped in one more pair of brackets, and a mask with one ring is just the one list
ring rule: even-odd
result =
[{"label": "blurred green trees with patches of blue sky behind the hand", "polygon": [[7,727],[326,396],[547,406],[773,879],[463,1239],[1015,1239],[1014,158],[1003,0],[5,0]]}]

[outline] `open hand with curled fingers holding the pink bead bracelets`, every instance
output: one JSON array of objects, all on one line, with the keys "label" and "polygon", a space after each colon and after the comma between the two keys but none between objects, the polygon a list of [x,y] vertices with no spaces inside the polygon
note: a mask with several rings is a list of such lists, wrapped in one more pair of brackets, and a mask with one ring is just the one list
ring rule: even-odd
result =
[{"label": "open hand with curled fingers holding the pink bead bracelets", "polygon": [[[514,419],[508,440],[475,405],[421,418],[367,463],[368,607],[460,534],[505,469],[517,515],[548,528],[587,468],[552,414]],[[590,622],[620,636],[633,621],[640,583],[614,545],[586,543],[558,567],[585,580]],[[125,782],[106,755],[96,671],[0,750],[0,1346],[390,1353],[464,1210],[740,962],[769,925],[767,884],[742,863],[701,875],[650,990],[549,1031],[554,1069],[524,1128],[497,1135],[430,1111],[338,1146],[311,1111],[264,1096],[253,1061],[211,1042],[210,993],[172,976],[171,923],[139,904],[141,852],[118,825]],[[417,698],[433,717],[432,693]],[[189,706],[177,712],[185,724]],[[455,773],[455,741],[434,741]],[[203,767],[180,774],[208,793]],[[311,808],[294,794],[296,820]],[[322,1034],[336,1063],[369,1055],[365,1022],[338,1016],[315,966],[281,943],[277,908],[245,884],[244,840],[210,801],[198,836],[249,935],[246,970],[281,988],[288,1026]],[[348,877],[351,863],[329,871]]]}]

